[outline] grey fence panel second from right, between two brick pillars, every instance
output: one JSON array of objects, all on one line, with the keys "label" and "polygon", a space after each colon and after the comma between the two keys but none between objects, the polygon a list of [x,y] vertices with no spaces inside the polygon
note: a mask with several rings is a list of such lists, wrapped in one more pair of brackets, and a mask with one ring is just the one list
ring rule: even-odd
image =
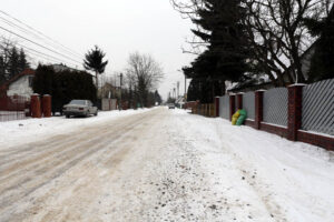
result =
[{"label": "grey fence panel second from right, between two brick pillars", "polygon": [[286,88],[275,88],[264,93],[263,121],[287,127],[288,91]]}]

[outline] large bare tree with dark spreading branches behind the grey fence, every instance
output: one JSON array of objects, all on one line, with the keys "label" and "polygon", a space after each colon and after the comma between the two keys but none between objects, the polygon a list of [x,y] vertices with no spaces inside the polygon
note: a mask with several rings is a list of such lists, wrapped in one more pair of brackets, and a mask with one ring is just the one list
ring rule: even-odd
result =
[{"label": "large bare tree with dark spreading branches behind the grey fence", "polygon": [[305,82],[301,56],[315,39],[304,19],[326,17],[331,0],[245,0],[243,7],[253,62],[277,85]]}]

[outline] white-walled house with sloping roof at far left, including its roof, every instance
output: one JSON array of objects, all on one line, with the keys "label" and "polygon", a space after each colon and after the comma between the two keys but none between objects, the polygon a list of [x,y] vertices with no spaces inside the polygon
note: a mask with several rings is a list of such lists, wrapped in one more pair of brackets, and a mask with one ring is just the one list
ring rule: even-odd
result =
[{"label": "white-walled house with sloping roof at far left, including its roof", "polygon": [[0,97],[20,95],[30,98],[33,93],[32,80],[35,70],[26,69],[21,73],[16,74],[9,81],[0,85]]}]

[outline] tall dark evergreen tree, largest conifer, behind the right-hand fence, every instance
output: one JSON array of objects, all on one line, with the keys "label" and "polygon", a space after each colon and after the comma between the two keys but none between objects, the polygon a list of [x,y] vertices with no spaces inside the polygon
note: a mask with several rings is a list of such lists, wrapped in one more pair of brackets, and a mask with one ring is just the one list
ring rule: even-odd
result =
[{"label": "tall dark evergreen tree, largest conifer, behind the right-hand fence", "polygon": [[184,72],[188,78],[196,79],[191,92],[205,90],[200,95],[202,102],[213,102],[215,95],[225,93],[225,80],[246,79],[244,73],[248,70],[246,59],[249,53],[246,32],[240,24],[244,17],[240,1],[204,0],[204,3],[205,7],[197,11],[199,18],[193,19],[202,29],[193,32],[208,47],[190,67],[184,68]]}]

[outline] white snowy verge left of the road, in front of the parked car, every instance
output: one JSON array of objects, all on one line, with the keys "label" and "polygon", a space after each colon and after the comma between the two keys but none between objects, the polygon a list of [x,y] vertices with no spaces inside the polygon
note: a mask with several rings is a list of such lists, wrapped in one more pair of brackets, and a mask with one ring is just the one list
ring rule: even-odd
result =
[{"label": "white snowy verge left of the road, in front of the parked car", "polygon": [[70,118],[62,117],[26,119],[0,122],[0,150],[4,147],[20,145],[50,137],[69,133],[79,128],[90,127],[117,118],[147,112],[149,109],[106,111],[99,112],[98,117]]}]

